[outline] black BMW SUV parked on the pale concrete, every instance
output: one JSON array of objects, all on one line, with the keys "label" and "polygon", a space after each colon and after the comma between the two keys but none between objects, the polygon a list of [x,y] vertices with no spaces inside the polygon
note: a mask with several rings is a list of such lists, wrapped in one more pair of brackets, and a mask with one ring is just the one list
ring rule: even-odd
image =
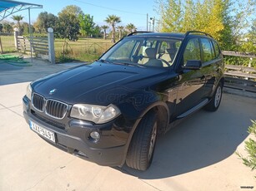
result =
[{"label": "black BMW SUV parked on the pale concrete", "polygon": [[204,32],[136,32],[98,61],[33,81],[23,97],[31,130],[100,165],[145,170],[158,134],[218,109],[223,55]]}]

